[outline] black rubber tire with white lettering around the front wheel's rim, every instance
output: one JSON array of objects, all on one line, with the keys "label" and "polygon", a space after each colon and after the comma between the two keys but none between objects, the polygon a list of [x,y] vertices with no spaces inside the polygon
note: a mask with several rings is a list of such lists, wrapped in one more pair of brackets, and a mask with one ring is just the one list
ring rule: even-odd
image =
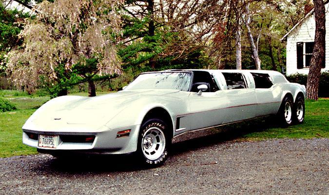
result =
[{"label": "black rubber tire with white lettering around the front wheel's rim", "polygon": [[[151,127],[159,128],[163,132],[166,139],[165,140],[166,145],[162,155],[155,160],[148,159],[144,155],[142,151],[142,143],[141,143],[144,133]],[[168,131],[169,131],[168,125],[160,119],[155,119],[155,118],[149,119],[142,124],[139,131],[138,142],[137,142],[137,154],[140,157],[142,164],[146,164],[147,166],[158,166],[163,164],[164,161],[168,158],[168,148],[171,143],[170,137],[168,136]]]}]

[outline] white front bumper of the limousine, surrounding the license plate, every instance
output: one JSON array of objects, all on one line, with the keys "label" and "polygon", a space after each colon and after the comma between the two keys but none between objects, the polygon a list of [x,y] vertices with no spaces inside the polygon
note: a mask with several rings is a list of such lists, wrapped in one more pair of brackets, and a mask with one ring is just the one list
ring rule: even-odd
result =
[{"label": "white front bumper of the limousine, surrounding the license plate", "polygon": [[[97,132],[42,132],[23,129],[23,144],[38,148],[42,153],[59,153],[59,152],[78,152],[86,154],[127,154],[137,150],[137,139],[140,125],[127,126],[120,129],[108,129],[103,127],[102,131]],[[119,131],[130,129],[129,136],[117,137]],[[29,137],[30,134],[35,134],[35,137]],[[38,146],[39,135],[58,135],[58,147],[42,148]],[[64,136],[95,136],[93,142],[72,142],[62,139]]]}]

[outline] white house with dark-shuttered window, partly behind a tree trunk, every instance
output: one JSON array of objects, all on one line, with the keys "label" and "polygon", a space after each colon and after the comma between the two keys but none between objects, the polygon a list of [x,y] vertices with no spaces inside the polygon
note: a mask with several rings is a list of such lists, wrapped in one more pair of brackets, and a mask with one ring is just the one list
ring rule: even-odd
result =
[{"label": "white house with dark-shuttered window, partly behind a tree trunk", "polygon": [[[329,3],[325,4],[326,9],[326,49],[325,60],[321,71],[329,71]],[[301,21],[281,39],[287,39],[287,75],[308,74],[310,70],[310,59],[312,56],[315,20],[314,9],[310,11]]]}]

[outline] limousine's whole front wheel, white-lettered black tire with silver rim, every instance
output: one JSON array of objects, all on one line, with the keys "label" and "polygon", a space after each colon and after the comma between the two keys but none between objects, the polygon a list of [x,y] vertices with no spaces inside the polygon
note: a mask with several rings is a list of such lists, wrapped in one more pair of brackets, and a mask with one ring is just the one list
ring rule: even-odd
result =
[{"label": "limousine's whole front wheel, white-lettered black tire with silver rim", "polygon": [[162,165],[168,158],[171,139],[168,125],[160,119],[149,119],[140,128],[137,155],[148,167]]}]

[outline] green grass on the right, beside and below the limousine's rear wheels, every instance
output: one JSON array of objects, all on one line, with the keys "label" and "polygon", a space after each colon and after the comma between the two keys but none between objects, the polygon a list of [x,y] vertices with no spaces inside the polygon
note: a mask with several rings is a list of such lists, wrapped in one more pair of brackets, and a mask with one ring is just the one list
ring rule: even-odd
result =
[{"label": "green grass on the right, beside and below the limousine's rear wheels", "polygon": [[264,117],[244,121],[220,128],[213,133],[220,133],[223,139],[262,140],[276,138],[329,138],[329,99],[305,102],[304,123],[281,128],[275,117]]}]

